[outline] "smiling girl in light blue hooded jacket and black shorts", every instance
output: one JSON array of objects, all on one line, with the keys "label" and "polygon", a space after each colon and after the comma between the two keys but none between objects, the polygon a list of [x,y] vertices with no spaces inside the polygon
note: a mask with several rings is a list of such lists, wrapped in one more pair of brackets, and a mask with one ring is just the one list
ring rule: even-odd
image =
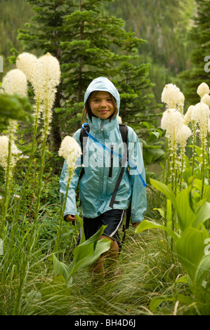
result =
[{"label": "smiling girl in light blue hooded jacket and black shorts", "polygon": [[[133,169],[131,164],[119,154],[124,154],[124,145],[119,131],[120,98],[119,93],[112,82],[99,77],[94,79],[88,86],[84,95],[83,117],[88,120],[90,128],[86,140],[86,152],[84,155],[84,174],[79,181],[81,165],[74,172],[70,183],[65,207],[65,220],[74,221],[77,213],[76,189],[79,182],[81,209],[84,220],[84,233],[86,239],[97,232],[101,225],[107,225],[100,238],[110,239],[110,250],[100,256],[92,266],[93,273],[105,274],[104,258],[112,260],[112,270],[116,265],[119,256],[119,235],[118,230],[122,225],[124,214],[131,201],[131,223],[138,225],[143,220],[146,211],[146,189],[143,185],[145,180],[145,169],[143,165],[142,152],[138,143],[138,137],[131,127],[128,126],[127,145],[129,148],[129,159],[137,168]],[[74,133],[74,138],[80,143],[81,128]],[[98,143],[99,141],[99,143]],[[103,143],[103,145],[101,145]],[[106,146],[103,147],[103,146]],[[112,152],[110,152],[112,150]],[[117,194],[112,199],[114,187],[119,173],[125,166],[122,180],[117,189]],[[138,173],[140,175],[138,175]],[[66,167],[60,176],[60,193],[66,191]],[[132,194],[132,199],[131,199]]]}]

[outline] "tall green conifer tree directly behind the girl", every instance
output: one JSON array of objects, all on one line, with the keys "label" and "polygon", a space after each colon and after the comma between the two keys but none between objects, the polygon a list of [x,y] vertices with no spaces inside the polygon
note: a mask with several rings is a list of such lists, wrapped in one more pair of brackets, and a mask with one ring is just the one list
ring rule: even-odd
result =
[{"label": "tall green conifer tree directly behind the girl", "polygon": [[[60,61],[63,72],[52,122],[54,149],[58,150],[60,132],[72,133],[81,125],[84,93],[91,80],[105,76],[119,87],[121,93],[125,86],[126,62],[129,65],[132,60],[129,51],[136,42],[141,44],[143,40],[133,38],[131,49],[126,46],[131,36],[124,30],[124,21],[103,15],[101,11],[103,3],[112,0],[27,1],[34,5],[36,15],[34,24],[27,25],[28,30],[19,32],[25,51],[37,49],[44,53],[50,52]],[[133,67],[132,70],[134,79],[131,79],[130,74],[126,92],[130,93],[129,98],[138,98],[138,104],[145,106],[145,96],[139,90],[150,86],[145,79],[147,65],[140,67],[136,77]],[[131,81],[136,81],[136,86],[132,82],[129,90]],[[133,89],[138,92],[133,93]]]}]

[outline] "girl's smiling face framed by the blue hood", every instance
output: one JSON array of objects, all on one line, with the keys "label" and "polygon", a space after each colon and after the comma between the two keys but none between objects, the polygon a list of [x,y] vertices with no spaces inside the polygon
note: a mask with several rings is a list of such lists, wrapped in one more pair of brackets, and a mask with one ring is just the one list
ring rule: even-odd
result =
[{"label": "girl's smiling face framed by the blue hood", "polygon": [[93,114],[100,119],[107,119],[114,113],[111,95],[105,91],[98,91],[91,97],[90,107]]}]

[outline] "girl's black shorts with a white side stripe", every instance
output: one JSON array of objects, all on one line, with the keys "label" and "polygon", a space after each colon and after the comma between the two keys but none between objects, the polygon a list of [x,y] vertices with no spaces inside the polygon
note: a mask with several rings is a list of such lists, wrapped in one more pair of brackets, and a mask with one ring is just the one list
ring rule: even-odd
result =
[{"label": "girl's black shorts with a white side stripe", "polygon": [[124,210],[112,209],[101,213],[97,218],[83,217],[85,238],[93,236],[102,225],[107,225],[102,235],[111,237],[113,241],[116,240],[121,245],[118,230],[122,225],[124,215]]}]

